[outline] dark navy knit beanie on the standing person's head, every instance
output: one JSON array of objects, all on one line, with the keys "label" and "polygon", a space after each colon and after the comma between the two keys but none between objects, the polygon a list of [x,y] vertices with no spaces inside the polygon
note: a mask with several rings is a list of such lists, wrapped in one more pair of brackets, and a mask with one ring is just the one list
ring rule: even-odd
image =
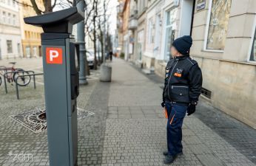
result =
[{"label": "dark navy knit beanie on the standing person's head", "polygon": [[181,38],[176,38],[175,41],[172,42],[172,46],[182,55],[187,55],[192,46],[192,38],[190,35],[183,35]]}]

